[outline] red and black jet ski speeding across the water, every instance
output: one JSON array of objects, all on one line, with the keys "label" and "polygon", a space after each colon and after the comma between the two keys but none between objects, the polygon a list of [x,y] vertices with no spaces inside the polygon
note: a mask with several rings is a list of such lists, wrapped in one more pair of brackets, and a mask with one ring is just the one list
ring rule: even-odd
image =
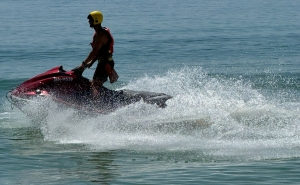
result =
[{"label": "red and black jet ski speeding across the water", "polygon": [[[77,110],[105,114],[117,108],[144,101],[158,107],[166,107],[171,96],[164,93],[131,90],[110,90],[101,87],[101,98],[94,100],[91,82],[77,68],[65,71],[62,66],[54,67],[26,80],[7,94],[8,100],[25,114],[29,114],[28,103],[50,98],[54,102]],[[43,106],[45,109],[47,106]]]}]

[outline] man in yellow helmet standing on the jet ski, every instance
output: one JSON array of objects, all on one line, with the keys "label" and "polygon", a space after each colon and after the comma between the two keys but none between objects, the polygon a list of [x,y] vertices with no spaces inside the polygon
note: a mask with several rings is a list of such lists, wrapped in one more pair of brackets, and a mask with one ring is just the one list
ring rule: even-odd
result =
[{"label": "man in yellow helmet standing on the jet ski", "polygon": [[98,89],[107,81],[107,78],[109,78],[110,83],[114,83],[119,77],[114,70],[114,61],[112,58],[114,39],[110,30],[101,26],[103,21],[103,14],[101,12],[92,11],[87,19],[89,20],[90,27],[94,28],[95,34],[91,43],[92,51],[82,62],[79,69],[83,71],[86,67],[90,68],[95,61],[98,61],[92,80],[93,96],[94,98],[98,98],[100,96]]}]

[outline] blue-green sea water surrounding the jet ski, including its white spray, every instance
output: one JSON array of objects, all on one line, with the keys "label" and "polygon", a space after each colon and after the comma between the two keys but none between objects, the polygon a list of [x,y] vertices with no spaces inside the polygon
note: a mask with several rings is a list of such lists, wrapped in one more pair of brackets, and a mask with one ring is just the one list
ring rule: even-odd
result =
[{"label": "blue-green sea water surrounding the jet ski, including its white spray", "polygon": [[[105,86],[173,98],[85,117],[52,102],[32,121],[7,92],[81,64],[93,10],[115,39],[120,77]],[[296,0],[1,1],[0,184],[299,184],[299,10]]]}]

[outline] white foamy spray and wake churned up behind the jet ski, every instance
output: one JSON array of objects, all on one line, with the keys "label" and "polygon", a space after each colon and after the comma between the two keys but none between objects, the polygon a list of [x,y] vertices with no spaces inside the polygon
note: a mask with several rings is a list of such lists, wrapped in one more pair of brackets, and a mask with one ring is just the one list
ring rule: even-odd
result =
[{"label": "white foamy spray and wake churned up behind the jet ski", "polygon": [[186,67],[145,76],[122,89],[164,92],[173,98],[165,109],[138,102],[94,117],[52,104],[40,125],[45,139],[83,143],[93,150],[189,150],[221,159],[300,156],[299,104],[278,103],[249,82]]}]

